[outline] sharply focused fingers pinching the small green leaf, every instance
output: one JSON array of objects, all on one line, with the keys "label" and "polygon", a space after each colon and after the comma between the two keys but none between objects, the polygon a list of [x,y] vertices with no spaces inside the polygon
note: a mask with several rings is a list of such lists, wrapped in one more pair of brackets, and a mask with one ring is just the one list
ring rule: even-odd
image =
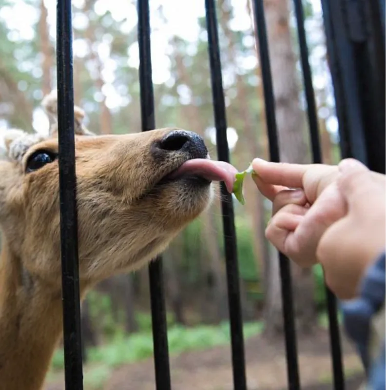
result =
[{"label": "sharply focused fingers pinching the small green leaf", "polygon": [[[257,187],[273,202],[267,238],[298,265],[309,267],[317,263],[316,248],[320,238],[346,213],[336,184],[338,167],[260,159],[255,159],[252,166],[257,173],[252,176]],[[370,175],[386,186],[386,176],[374,172]]]}]

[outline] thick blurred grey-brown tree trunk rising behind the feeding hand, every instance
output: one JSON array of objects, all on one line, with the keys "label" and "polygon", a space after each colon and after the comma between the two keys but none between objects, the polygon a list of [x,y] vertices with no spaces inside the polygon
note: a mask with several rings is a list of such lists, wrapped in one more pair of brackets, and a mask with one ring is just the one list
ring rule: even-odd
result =
[{"label": "thick blurred grey-brown tree trunk rising behind the feeding hand", "polygon": [[[308,163],[309,147],[305,141],[305,117],[300,108],[300,88],[296,71],[296,58],[289,28],[288,0],[266,0],[265,12],[270,43],[273,89],[276,106],[280,156],[282,161]],[[293,295],[297,326],[300,331],[311,331],[316,324],[312,270],[302,270],[291,264]],[[268,301],[275,305],[280,288],[278,267],[271,264],[271,284]],[[278,305],[276,305],[278,306]],[[282,329],[275,307],[267,307],[267,329]],[[280,319],[282,323],[282,319]]]}]

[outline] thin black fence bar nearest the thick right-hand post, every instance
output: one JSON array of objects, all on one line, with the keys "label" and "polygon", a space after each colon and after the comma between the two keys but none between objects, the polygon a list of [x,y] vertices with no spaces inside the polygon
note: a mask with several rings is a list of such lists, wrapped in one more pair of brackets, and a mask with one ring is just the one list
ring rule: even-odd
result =
[{"label": "thin black fence bar nearest the thick right-hand post", "polygon": [[[314,163],[322,163],[322,151],[319,140],[319,126],[316,112],[314,89],[312,84],[311,68],[309,66],[309,52],[304,28],[304,10],[302,0],[294,0],[294,9],[297,22],[297,32],[300,47],[300,60],[302,64],[304,89],[307,100],[307,115],[309,121],[309,133],[311,139],[312,160]],[[332,370],[334,377],[334,389],[344,390],[345,379],[343,373],[341,340],[338,324],[336,298],[326,286],[328,323],[330,347],[332,353]]]}]

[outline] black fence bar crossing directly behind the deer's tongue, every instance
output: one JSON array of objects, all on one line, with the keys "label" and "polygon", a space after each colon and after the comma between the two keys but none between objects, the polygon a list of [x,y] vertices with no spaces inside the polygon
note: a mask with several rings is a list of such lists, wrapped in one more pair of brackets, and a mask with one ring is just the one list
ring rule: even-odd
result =
[{"label": "black fence bar crossing directly behind the deer's tongue", "polygon": [[[221,59],[214,0],[205,0],[205,11],[208,31],[208,51],[211,67],[212,98],[214,121],[216,126],[217,153],[219,160],[229,162],[227,119],[224,90],[222,85]],[[233,387],[235,390],[247,390],[243,320],[240,300],[239,270],[237,260],[236,231],[234,227],[233,203],[232,195],[228,193],[224,183],[221,183],[221,194],[225,259],[227,269],[228,304],[232,338]]]}]

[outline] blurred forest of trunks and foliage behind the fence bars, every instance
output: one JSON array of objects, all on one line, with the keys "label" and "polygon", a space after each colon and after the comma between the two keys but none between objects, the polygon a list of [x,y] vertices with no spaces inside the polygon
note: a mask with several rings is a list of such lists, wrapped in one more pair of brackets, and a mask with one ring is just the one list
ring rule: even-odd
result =
[{"label": "blurred forest of trunks and foliage behind the fence bars", "polygon": [[[337,120],[321,7],[303,1],[309,60],[324,161],[339,159]],[[99,134],[141,129],[136,4],[132,0],[74,0],[74,84],[86,124]],[[152,61],[157,127],[178,126],[205,137],[216,158],[204,1],[152,0]],[[231,162],[247,168],[269,158],[262,80],[250,0],[218,0],[223,84]],[[282,159],[310,162],[292,2],[266,0],[272,76]],[[0,0],[0,131],[45,133],[39,107],[56,88],[56,2]],[[234,202],[245,337],[282,337],[277,253],[264,239],[270,202],[246,180],[246,205]],[[301,333],[326,326],[319,268],[292,269]],[[227,286],[220,202],[192,223],[164,254],[171,353],[227,345]],[[85,380],[98,388],[111,370],[152,356],[148,271],[101,283],[82,305],[87,348]],[[94,365],[94,366],[93,366]],[[97,366],[95,366],[97,365]],[[97,367],[88,375],[87,367]],[[62,350],[52,374],[63,368]],[[60,371],[62,372],[62,371]]]}]

